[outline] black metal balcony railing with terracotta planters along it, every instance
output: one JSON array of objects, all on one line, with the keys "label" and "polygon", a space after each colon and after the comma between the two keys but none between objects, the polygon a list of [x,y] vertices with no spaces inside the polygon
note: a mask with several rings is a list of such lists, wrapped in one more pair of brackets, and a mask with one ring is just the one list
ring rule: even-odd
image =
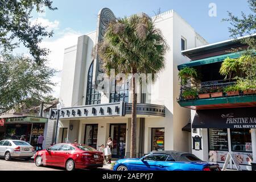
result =
[{"label": "black metal balcony railing with terracotta planters along it", "polygon": [[[207,82],[201,82],[199,85],[196,86],[190,86],[190,85],[181,85],[180,86],[180,96],[177,99],[178,102],[183,102],[183,101],[191,101],[191,100],[200,100],[200,99],[205,99],[205,98],[215,98],[215,97],[230,97],[229,94],[223,92],[223,90],[228,87],[235,85],[236,81],[225,81],[225,80],[214,80],[214,81],[207,81]],[[192,90],[192,92],[196,92],[196,96],[194,94],[193,97],[184,97],[183,93],[185,91]],[[208,92],[204,92],[205,90],[208,90]],[[203,92],[202,92],[203,91]],[[209,97],[203,97],[200,98],[200,94],[209,94]],[[218,96],[215,96],[213,93],[221,93],[218,94]],[[246,96],[246,95],[251,95],[255,93],[245,93],[245,92],[237,92],[233,96]],[[213,97],[214,96],[214,97]]]}]

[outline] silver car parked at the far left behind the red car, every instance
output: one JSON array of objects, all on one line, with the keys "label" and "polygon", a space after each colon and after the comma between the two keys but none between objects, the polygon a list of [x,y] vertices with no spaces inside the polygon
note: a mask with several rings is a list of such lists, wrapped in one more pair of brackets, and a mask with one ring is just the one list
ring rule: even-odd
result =
[{"label": "silver car parked at the far left behind the red car", "polygon": [[11,158],[24,158],[29,160],[34,155],[34,147],[22,140],[0,141],[0,157],[5,160]]}]

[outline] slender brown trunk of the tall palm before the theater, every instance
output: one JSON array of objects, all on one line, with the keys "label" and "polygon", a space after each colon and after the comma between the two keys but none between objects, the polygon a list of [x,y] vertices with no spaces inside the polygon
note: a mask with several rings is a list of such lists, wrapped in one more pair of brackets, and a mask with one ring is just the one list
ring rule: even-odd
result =
[{"label": "slender brown trunk of the tall palm before the theater", "polygon": [[[135,71],[133,71],[133,74]],[[136,83],[135,77],[132,81],[133,86],[133,101],[131,104],[131,158],[136,158],[136,135],[137,135],[137,92],[136,92]]]}]

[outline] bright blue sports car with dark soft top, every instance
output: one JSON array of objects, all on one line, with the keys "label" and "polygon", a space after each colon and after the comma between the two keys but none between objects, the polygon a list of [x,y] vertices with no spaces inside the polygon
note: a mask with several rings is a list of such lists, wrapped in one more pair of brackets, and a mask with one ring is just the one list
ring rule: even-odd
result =
[{"label": "bright blue sports car with dark soft top", "polygon": [[218,164],[178,151],[154,151],[138,159],[120,159],[114,171],[221,171]]}]

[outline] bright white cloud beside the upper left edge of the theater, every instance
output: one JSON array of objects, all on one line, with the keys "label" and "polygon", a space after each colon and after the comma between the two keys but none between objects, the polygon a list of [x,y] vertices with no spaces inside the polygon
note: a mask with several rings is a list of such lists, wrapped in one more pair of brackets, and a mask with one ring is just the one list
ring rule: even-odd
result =
[{"label": "bright white cloud beside the upper left edge of the theater", "polygon": [[[63,68],[64,49],[76,45],[77,38],[81,35],[81,32],[74,31],[71,28],[66,28],[61,32],[55,32],[54,35],[58,36],[58,38],[55,40],[43,40],[40,46],[48,48],[51,51],[51,53],[49,53],[47,56],[49,66],[61,71]],[[54,97],[59,97],[61,73],[58,73],[52,79],[57,83],[57,85],[53,88],[52,94]]]}]

